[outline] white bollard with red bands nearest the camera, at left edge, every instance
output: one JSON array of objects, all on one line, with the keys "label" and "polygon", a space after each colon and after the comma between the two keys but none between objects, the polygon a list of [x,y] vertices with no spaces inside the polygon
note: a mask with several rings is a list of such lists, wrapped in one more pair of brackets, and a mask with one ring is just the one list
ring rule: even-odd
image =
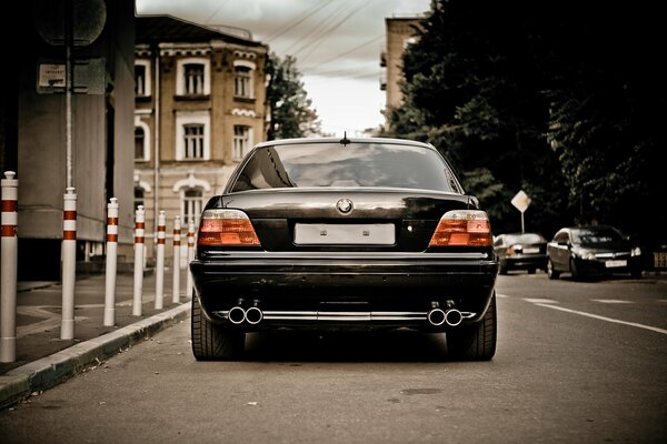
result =
[{"label": "white bollard with red bands nearest the camera, at left edge", "polygon": [[0,362],[17,360],[17,261],[19,181],[16,172],[2,179],[2,270],[0,291]]}]

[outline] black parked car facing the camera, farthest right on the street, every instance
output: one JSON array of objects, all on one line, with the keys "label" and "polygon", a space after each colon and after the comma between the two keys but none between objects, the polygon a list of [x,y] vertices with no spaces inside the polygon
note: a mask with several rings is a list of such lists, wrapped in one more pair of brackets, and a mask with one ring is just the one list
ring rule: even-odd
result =
[{"label": "black parked car facing the camera, farthest right on the street", "polygon": [[547,244],[549,279],[558,279],[563,272],[573,279],[616,273],[638,279],[641,268],[641,249],[609,225],[564,228]]}]

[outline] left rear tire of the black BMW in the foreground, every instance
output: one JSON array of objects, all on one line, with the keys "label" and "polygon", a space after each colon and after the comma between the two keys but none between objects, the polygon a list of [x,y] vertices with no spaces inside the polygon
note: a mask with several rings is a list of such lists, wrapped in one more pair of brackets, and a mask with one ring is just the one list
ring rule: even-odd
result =
[{"label": "left rear tire of the black BMW in the foreground", "polygon": [[225,329],[210,322],[192,295],[191,314],[192,354],[197,361],[226,361],[241,356],[246,333]]}]

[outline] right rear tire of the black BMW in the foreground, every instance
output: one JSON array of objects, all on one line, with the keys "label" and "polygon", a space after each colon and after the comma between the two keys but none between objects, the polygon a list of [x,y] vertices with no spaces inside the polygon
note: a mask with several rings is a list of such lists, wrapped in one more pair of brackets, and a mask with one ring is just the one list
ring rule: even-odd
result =
[{"label": "right rear tire of the black BMW in the foreground", "polygon": [[497,337],[496,292],[482,320],[474,325],[459,325],[448,331],[449,357],[464,361],[490,361],[496,354]]}]

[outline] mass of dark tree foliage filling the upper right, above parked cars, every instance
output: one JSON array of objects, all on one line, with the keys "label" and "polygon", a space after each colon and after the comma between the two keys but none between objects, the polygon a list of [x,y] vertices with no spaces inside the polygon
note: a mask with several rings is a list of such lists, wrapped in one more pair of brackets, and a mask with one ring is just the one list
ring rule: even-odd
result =
[{"label": "mass of dark tree foliage filling the upper right, above parked cars", "polygon": [[496,232],[520,229],[519,190],[531,198],[527,229],[547,236],[596,221],[638,231],[639,209],[666,201],[667,145],[666,39],[639,3],[565,0],[546,13],[539,2],[434,0],[387,134],[436,145]]}]

